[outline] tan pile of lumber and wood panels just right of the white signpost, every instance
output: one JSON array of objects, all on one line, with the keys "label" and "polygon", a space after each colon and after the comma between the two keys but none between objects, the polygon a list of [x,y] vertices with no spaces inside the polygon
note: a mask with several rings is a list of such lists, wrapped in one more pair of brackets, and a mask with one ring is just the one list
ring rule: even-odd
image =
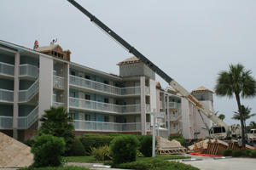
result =
[{"label": "tan pile of lumber and wood panels just right of the white signpost", "polygon": [[160,154],[184,154],[188,150],[183,147],[177,140],[168,140],[161,137],[157,137],[158,150]]}]

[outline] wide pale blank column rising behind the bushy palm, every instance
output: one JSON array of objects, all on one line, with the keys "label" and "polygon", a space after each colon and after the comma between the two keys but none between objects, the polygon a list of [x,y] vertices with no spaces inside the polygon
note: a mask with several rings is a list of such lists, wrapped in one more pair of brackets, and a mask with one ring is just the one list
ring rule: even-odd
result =
[{"label": "wide pale blank column rising behind the bushy palm", "polygon": [[[38,117],[44,115],[44,110],[49,110],[52,105],[53,95],[53,59],[48,57],[39,57],[39,100]],[[38,122],[38,127],[41,122]]]}]

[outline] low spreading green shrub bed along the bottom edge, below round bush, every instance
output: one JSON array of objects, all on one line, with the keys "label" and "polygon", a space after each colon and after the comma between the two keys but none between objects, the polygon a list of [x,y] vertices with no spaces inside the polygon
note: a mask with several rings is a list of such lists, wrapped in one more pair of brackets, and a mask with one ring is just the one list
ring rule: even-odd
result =
[{"label": "low spreading green shrub bed along the bottom edge, below round bush", "polygon": [[165,161],[154,159],[152,161],[133,161],[128,163],[122,163],[119,165],[113,165],[115,168],[124,168],[124,169],[158,169],[158,170],[175,170],[175,169],[186,169],[186,170],[199,170],[197,167],[192,167],[178,161]]}]

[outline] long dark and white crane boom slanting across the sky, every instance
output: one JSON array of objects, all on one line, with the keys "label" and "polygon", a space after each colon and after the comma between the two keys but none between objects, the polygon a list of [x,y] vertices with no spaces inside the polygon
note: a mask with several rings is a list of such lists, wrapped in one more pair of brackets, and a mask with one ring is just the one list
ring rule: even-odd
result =
[{"label": "long dark and white crane boom slanting across the sky", "polygon": [[154,63],[152,63],[149,59],[147,59],[143,54],[141,54],[136,48],[132,47],[128,42],[119,35],[117,35],[113,30],[108,28],[105,24],[102,23],[101,20],[98,20],[96,16],[90,14],[85,8],[83,8],[79,3],[74,0],[67,0],[69,3],[72,3],[74,7],[78,8],[82,13],[84,13],[90,21],[96,24],[102,31],[108,34],[108,36],[112,37],[116,42],[118,42],[121,46],[123,46],[129,53],[134,54],[138,59],[140,59],[145,65],[162,77],[172,88],[174,88],[178,93],[182,94],[183,97],[188,99],[193,105],[195,105],[204,115],[206,115],[209,119],[212,120],[218,126],[223,126],[228,129],[228,125],[221,121],[218,116],[216,116],[212,111],[210,111],[205,105],[203,105],[198,99],[196,99],[193,95],[191,95],[185,88],[183,88],[180,84],[178,84],[174,79],[169,77],[164,71],[161,71],[160,68]]}]

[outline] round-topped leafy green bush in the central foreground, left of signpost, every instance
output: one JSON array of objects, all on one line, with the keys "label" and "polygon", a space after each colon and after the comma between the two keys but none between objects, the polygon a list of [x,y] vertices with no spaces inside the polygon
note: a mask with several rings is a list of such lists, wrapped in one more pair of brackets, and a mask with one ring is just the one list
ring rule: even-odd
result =
[{"label": "round-topped leafy green bush in the central foreground, left of signpost", "polygon": [[110,144],[113,164],[136,161],[138,145],[135,135],[122,135],[113,139]]}]

